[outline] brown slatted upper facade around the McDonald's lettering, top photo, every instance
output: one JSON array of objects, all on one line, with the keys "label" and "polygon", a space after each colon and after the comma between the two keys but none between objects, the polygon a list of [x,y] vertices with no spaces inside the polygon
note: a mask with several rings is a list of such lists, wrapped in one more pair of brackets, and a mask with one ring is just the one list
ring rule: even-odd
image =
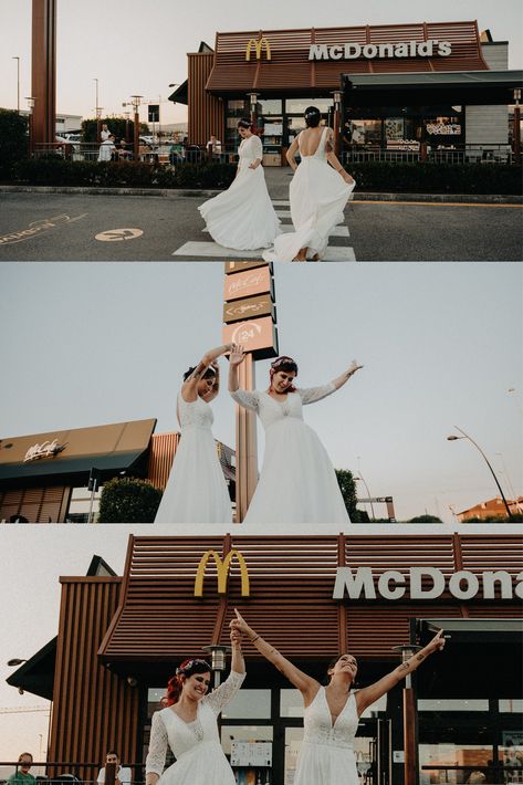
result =
[{"label": "brown slatted upper facade around the McDonald's lettering, top photo", "polygon": [[[263,50],[259,60],[253,54],[245,62],[251,39],[265,39],[269,42],[271,60],[266,59]],[[432,57],[308,61],[308,48],[313,43],[365,45],[422,42],[428,39],[450,41],[452,53],[449,56]],[[217,95],[261,91],[266,95],[301,97],[301,94],[308,95],[311,91],[328,94],[330,91],[339,90],[341,73],[484,71],[489,67],[481,52],[475,21],[217,33],[213,57],[206,90]]]}]

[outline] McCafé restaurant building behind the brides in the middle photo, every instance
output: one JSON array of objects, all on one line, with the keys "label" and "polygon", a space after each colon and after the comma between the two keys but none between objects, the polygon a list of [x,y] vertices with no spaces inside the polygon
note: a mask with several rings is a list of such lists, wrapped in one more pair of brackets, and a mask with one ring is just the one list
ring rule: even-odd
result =
[{"label": "McCaf\u00e9 restaurant building behind the brides in the middle photo", "polygon": [[[154,433],[156,419],[0,439],[0,522],[87,523],[91,490],[115,477],[148,480],[165,489],[180,435]],[[217,442],[231,501],[234,452]]]}]

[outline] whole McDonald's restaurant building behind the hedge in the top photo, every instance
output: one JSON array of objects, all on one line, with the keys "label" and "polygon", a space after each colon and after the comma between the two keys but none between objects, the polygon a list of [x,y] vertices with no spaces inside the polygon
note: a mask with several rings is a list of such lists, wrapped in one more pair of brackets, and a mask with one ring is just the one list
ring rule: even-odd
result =
[{"label": "whole McDonald's restaurant building behind the hedge in the top photo", "polygon": [[426,143],[468,146],[478,159],[484,145],[501,160],[522,81],[508,62],[508,42],[475,21],[219,32],[215,49],[202,42],[188,54],[188,78],[169,98],[188,105],[191,145],[213,134],[228,153],[240,117],[254,114],[265,165],[284,163],[311,104],[353,159]]}]

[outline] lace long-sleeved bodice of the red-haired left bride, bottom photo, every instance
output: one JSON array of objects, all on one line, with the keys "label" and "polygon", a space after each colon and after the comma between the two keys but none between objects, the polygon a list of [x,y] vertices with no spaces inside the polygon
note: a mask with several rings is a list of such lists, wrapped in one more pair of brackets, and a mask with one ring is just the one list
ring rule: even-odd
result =
[{"label": "lace long-sleeved bodice of the red-haired left bride, bottom photo", "polygon": [[167,747],[170,746],[177,760],[197,744],[220,743],[217,716],[240,689],[244,673],[231,671],[229,678],[198,704],[198,715],[193,722],[184,722],[170,706],[153,714],[150,741],[146,772],[161,775]]}]

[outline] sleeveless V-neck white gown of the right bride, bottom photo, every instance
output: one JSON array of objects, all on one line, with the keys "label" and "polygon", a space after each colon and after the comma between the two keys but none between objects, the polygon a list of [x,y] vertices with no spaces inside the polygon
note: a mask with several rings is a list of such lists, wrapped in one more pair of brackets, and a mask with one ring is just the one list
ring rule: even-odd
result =
[{"label": "sleeveless V-neck white gown of the right bride, bottom photo", "polygon": [[358,785],[353,747],[358,730],[354,692],[333,724],[325,688],[321,687],[305,709],[303,726],[294,785]]}]

